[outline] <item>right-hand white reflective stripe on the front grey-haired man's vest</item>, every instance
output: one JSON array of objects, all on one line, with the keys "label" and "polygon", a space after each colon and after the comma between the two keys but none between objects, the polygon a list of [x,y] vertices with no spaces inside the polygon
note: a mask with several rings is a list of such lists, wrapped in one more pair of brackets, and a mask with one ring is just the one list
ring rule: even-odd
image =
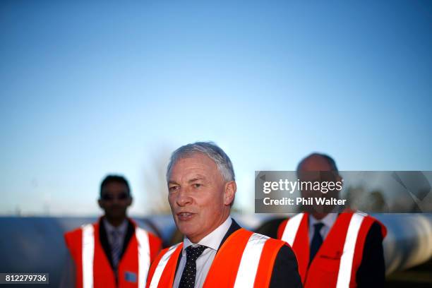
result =
[{"label": "right-hand white reflective stripe on the front grey-haired man's vest", "polygon": [[244,248],[234,288],[253,287],[265,241],[268,236],[253,233]]}]

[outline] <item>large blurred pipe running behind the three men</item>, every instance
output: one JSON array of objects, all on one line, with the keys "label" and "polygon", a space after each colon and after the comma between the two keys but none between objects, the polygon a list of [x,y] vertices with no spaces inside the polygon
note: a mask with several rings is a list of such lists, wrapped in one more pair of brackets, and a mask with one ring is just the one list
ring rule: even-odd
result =
[{"label": "large blurred pipe running behind the three men", "polygon": [[[386,273],[412,268],[432,257],[432,214],[375,214],[388,228],[383,242]],[[247,229],[255,230],[264,222],[287,215],[234,214]],[[0,270],[4,272],[49,272],[49,287],[57,287],[66,247],[63,234],[95,217],[0,217]],[[136,219],[138,224],[156,232],[167,244],[176,231],[172,215]]]}]

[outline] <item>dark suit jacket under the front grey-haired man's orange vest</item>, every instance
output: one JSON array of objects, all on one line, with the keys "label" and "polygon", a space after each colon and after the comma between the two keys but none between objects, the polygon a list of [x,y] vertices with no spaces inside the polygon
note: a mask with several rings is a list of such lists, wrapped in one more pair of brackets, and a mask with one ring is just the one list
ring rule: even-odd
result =
[{"label": "dark suit jacket under the front grey-haired man's orange vest", "polygon": [[[237,224],[233,219],[227,234],[225,234],[224,238],[220,242],[219,248],[231,234],[240,228],[239,224]],[[180,260],[181,253],[179,260],[177,260],[177,268],[179,268]],[[294,255],[292,248],[287,245],[282,246],[280,251],[277,253],[275,266],[270,280],[270,287],[302,287],[296,256]]]}]

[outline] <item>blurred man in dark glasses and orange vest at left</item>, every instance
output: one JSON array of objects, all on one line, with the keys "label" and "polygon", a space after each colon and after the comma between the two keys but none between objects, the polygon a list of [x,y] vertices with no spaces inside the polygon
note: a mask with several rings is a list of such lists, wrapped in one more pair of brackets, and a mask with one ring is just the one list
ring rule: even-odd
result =
[{"label": "blurred man in dark glasses and orange vest at left", "polygon": [[97,202],[104,216],[65,234],[74,263],[74,277],[67,286],[144,287],[161,241],[127,217],[132,204],[128,181],[123,176],[105,177]]}]

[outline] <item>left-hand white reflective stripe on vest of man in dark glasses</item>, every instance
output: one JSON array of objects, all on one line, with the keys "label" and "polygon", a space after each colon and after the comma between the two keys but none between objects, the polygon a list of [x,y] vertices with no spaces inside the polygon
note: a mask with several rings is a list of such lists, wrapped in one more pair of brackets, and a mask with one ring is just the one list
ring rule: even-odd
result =
[{"label": "left-hand white reflective stripe on vest of man in dark glasses", "polygon": [[81,228],[83,229],[83,288],[92,288],[95,229],[92,224],[85,224]]}]

